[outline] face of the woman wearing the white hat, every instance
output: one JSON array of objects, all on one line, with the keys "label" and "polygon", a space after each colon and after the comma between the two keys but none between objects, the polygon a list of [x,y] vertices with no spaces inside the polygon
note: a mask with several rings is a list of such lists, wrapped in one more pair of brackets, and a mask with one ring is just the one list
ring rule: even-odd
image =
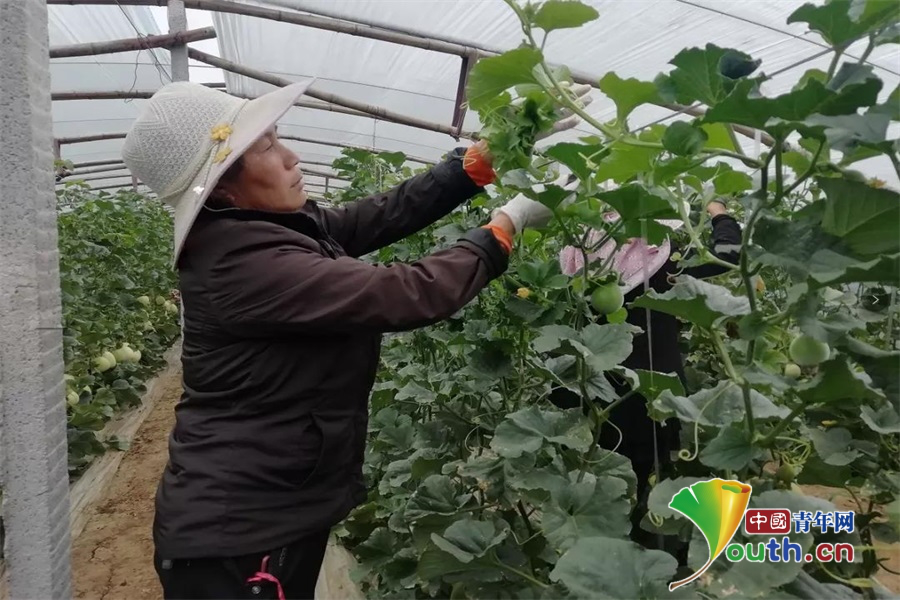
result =
[{"label": "face of the woman wearing the white hat", "polygon": [[306,204],[300,158],[270,128],[241,157],[241,169],[217,193],[238,208],[294,212]]}]

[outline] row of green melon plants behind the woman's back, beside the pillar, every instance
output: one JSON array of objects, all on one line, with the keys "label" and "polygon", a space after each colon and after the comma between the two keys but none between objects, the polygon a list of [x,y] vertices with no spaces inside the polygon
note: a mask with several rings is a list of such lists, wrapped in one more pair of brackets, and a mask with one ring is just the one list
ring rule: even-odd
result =
[{"label": "row of green melon plants behind the woman's back, beside the pillar", "polygon": [[69,471],[76,475],[116,443],[98,432],[140,402],[181,331],[172,218],[163,205],[83,184],[57,196]]}]

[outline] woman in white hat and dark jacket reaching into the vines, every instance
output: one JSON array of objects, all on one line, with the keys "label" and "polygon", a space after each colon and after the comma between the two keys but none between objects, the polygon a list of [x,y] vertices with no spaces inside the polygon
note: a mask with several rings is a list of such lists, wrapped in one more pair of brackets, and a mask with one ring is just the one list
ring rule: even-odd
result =
[{"label": "woman in white hat and dark jacket reaching into the vines", "polygon": [[329,529],[365,498],[381,334],[457,312],[506,269],[513,234],[545,220],[517,199],[416,263],[357,260],[481,192],[490,156],[479,143],[320,207],[274,128],[305,88],[247,101],[170,84],[125,141],[132,173],[174,207],[184,308],[184,395],[153,527],[166,598],[312,598]]}]

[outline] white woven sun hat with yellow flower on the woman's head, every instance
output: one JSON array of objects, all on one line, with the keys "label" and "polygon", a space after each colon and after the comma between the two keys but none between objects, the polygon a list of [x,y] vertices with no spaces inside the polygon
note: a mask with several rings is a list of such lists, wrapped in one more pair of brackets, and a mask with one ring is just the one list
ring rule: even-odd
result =
[{"label": "white woven sun hat with yellow flower on the woman's head", "polygon": [[122,158],[175,209],[173,260],[178,260],[197,214],[228,167],[311,83],[294,83],[245,100],[197,83],[176,82],[150,98],[125,137]]}]

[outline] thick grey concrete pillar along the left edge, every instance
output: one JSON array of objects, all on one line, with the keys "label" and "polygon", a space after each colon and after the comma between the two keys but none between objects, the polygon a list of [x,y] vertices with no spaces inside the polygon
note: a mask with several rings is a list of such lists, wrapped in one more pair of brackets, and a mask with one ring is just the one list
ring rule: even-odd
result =
[{"label": "thick grey concrete pillar along the left edge", "polygon": [[11,598],[69,598],[47,6],[0,2],[0,485]]}]

